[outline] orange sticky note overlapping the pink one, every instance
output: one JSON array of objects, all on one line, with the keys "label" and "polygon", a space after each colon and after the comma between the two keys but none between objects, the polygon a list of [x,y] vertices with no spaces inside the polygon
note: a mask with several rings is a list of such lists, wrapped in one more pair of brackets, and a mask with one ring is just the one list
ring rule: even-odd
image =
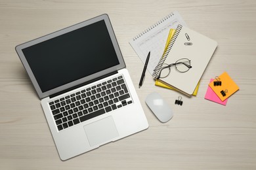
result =
[{"label": "orange sticky note overlapping the pink one", "polygon": [[230,97],[230,95],[238,91],[239,87],[226,72],[220,75],[219,78],[222,82],[221,86],[214,86],[213,82],[210,82],[209,86],[219,96],[221,101],[224,101]]}]

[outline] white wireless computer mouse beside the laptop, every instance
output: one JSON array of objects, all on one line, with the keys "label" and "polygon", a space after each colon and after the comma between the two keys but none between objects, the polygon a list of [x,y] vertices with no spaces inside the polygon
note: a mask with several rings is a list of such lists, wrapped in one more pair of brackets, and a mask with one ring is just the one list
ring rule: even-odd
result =
[{"label": "white wireless computer mouse beside the laptop", "polygon": [[168,122],[173,118],[173,111],[168,103],[161,97],[160,93],[150,93],[146,97],[146,105],[152,110],[160,122]]}]

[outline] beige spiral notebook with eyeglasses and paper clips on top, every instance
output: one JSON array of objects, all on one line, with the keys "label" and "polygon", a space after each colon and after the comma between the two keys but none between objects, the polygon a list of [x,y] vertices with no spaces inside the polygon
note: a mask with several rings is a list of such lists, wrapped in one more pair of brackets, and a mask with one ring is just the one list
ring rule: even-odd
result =
[{"label": "beige spiral notebook with eyeglasses and paper clips on top", "polygon": [[[187,41],[186,33],[189,35],[193,45],[184,45],[184,42]],[[165,68],[163,65],[175,65],[175,67],[169,68],[169,75],[159,78],[159,81],[185,95],[192,95],[216,48],[216,41],[188,27],[178,25],[168,44],[168,49],[160,59],[153,76],[157,79],[161,75],[161,71]],[[180,62],[181,59],[185,59],[186,63]],[[186,69],[186,71],[178,70],[178,65]],[[188,66],[192,66],[192,68]]]}]

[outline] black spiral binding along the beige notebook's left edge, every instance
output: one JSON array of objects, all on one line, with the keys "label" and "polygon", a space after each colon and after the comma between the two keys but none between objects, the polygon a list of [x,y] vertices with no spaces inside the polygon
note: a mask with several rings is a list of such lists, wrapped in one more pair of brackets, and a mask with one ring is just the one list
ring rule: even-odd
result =
[{"label": "black spiral binding along the beige notebook's left edge", "polygon": [[165,52],[163,52],[163,56],[160,59],[160,61],[158,62],[158,65],[156,66],[156,69],[154,70],[154,73],[153,73],[152,76],[155,79],[158,77],[158,74],[161,70],[161,67],[162,67],[163,63],[165,62],[165,59],[167,58],[171,48],[173,47],[173,44],[175,43],[175,40],[178,38],[178,35],[179,35],[181,29],[182,29],[182,25],[179,24],[177,26],[177,29],[175,30],[175,33],[174,33],[173,37],[171,38],[171,41],[169,42],[169,44],[167,46],[167,49],[165,50]]}]

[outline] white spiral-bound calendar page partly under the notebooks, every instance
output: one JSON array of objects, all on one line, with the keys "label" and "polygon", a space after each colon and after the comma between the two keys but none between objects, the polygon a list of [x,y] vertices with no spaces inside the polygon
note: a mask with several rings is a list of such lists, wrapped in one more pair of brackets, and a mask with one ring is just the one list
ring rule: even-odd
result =
[{"label": "white spiral-bound calendar page partly under the notebooks", "polygon": [[148,71],[151,75],[153,75],[154,69],[163,55],[169,30],[176,28],[178,24],[186,25],[179,12],[171,12],[171,14],[165,16],[129,41],[143,63],[146,62],[148,52],[151,52],[148,63]]}]

